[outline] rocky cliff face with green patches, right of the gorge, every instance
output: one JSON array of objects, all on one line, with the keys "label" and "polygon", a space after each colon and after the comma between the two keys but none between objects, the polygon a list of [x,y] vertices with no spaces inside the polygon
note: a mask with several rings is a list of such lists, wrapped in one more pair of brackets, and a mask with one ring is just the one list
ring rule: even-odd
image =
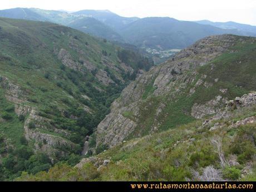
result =
[{"label": "rocky cliff face with green patches, right of the gorge", "polygon": [[[209,78],[216,70],[215,58],[235,56],[238,51],[233,47],[246,43],[255,45],[255,38],[206,37],[137,77],[97,127],[97,146],[111,147],[131,137],[216,114],[233,92],[219,78]],[[202,72],[205,65],[209,70]]]}]

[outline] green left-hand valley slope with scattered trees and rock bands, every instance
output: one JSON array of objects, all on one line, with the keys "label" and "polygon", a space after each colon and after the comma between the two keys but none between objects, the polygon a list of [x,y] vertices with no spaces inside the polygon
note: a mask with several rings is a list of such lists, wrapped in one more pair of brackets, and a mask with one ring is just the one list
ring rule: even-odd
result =
[{"label": "green left-hand valley slope with scattered trees and rock bands", "polygon": [[[75,161],[142,56],[75,29],[0,18],[0,179]],[[40,154],[38,152],[41,151]]]}]

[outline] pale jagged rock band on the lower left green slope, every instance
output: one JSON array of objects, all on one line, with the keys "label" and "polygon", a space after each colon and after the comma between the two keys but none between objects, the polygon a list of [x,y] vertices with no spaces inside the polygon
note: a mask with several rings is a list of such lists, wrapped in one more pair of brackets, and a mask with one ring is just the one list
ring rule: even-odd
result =
[{"label": "pale jagged rock band on the lower left green slope", "polygon": [[[70,133],[57,129],[51,125],[51,120],[38,114],[39,110],[35,106],[31,106],[26,95],[26,90],[19,85],[14,84],[8,78],[2,77],[1,87],[6,91],[6,99],[14,104],[14,111],[18,116],[27,116],[24,121],[24,137],[27,141],[32,141],[36,150],[46,152],[49,156],[54,156],[56,151],[59,151],[61,147],[75,147],[75,144],[61,136],[55,136],[54,134],[47,134],[47,130],[51,130],[53,133],[69,136]],[[33,127],[29,124],[33,124]],[[45,131],[45,132],[44,132]],[[62,151],[62,154],[65,152]]]}]

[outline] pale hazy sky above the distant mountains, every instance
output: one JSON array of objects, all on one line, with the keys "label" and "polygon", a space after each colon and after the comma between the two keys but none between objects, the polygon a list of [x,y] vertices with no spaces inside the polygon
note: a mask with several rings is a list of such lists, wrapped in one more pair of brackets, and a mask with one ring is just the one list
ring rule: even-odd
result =
[{"label": "pale hazy sky above the distant mountains", "polygon": [[235,21],[256,26],[256,0],[1,0],[0,9],[109,9],[125,17],[173,17],[179,20]]}]

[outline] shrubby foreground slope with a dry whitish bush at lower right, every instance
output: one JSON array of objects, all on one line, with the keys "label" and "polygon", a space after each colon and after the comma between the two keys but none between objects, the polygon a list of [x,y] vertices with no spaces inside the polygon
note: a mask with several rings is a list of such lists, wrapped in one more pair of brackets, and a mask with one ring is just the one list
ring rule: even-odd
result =
[{"label": "shrubby foreground slope with a dry whitish bush at lower right", "polygon": [[208,124],[196,120],[124,142],[75,168],[58,164],[48,172],[23,173],[17,180],[255,181],[255,110],[255,105],[242,107]]}]

